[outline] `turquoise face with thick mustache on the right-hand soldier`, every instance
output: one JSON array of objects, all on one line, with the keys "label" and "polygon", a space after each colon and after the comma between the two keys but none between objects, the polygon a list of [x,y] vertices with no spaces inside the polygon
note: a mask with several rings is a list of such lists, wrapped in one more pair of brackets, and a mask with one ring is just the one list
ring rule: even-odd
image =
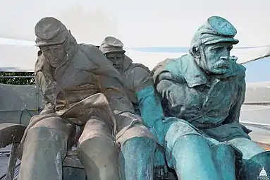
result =
[{"label": "turquoise face with thick mustache on the right-hand soldier", "polygon": [[200,47],[200,61],[198,65],[207,73],[222,75],[231,68],[231,43],[209,44]]}]

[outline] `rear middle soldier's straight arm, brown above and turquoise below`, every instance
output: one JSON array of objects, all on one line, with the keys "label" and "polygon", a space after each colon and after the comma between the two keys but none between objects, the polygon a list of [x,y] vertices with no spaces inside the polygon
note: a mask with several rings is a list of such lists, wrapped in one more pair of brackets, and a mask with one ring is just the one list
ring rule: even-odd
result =
[{"label": "rear middle soldier's straight arm, brown above and turquoise below", "polygon": [[133,85],[142,119],[162,145],[164,114],[148,68],[142,66],[133,68]]}]

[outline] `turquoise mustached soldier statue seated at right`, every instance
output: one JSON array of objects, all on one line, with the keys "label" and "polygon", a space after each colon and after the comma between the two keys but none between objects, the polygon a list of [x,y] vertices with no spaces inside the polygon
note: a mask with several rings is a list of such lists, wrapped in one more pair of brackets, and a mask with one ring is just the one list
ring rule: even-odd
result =
[{"label": "turquoise mustached soldier statue seated at right", "polygon": [[[195,33],[189,54],[166,59],[153,70],[164,114],[172,117],[162,133],[168,166],[178,179],[232,180],[235,171],[251,179],[245,163],[257,155],[269,158],[239,124],[245,67],[230,56],[238,43],[235,34],[231,23],[212,16]],[[248,171],[259,176],[257,169]]]}]

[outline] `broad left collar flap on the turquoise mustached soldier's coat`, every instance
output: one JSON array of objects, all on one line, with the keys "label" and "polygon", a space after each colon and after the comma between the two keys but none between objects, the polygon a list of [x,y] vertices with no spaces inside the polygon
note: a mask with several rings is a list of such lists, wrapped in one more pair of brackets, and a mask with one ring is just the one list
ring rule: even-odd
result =
[{"label": "broad left collar flap on the turquoise mustached soldier's coat", "polygon": [[205,73],[197,66],[195,59],[186,54],[180,58],[178,68],[180,68],[188,87],[194,88],[197,85],[208,85]]}]

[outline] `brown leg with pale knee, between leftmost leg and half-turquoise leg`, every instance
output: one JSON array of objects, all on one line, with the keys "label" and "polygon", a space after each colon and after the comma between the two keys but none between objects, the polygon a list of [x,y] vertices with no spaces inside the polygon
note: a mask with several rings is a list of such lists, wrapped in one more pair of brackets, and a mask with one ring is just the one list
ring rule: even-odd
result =
[{"label": "brown leg with pale knee, between leftmost leg and half-turquoise leg", "polygon": [[78,156],[87,179],[119,179],[118,146],[112,128],[100,119],[90,119],[79,138]]}]

